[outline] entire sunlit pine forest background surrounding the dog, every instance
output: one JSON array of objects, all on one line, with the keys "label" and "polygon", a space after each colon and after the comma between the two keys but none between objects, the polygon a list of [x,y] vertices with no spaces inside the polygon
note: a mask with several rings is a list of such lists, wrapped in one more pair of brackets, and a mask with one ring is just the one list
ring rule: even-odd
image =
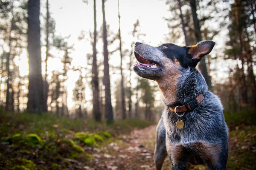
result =
[{"label": "entire sunlit pine forest background surrounding the dog", "polygon": [[203,40],[216,43],[197,69],[224,106],[227,169],[254,170],[255,0],[0,0],[0,170],[154,170],[165,105],[133,71],[135,42]]}]

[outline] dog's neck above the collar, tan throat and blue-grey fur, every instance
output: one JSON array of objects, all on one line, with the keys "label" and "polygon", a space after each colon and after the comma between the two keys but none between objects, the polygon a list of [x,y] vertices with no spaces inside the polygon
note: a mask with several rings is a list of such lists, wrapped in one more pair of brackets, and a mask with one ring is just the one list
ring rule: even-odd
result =
[{"label": "dog's neck above the collar, tan throat and blue-grey fur", "polygon": [[204,77],[196,68],[184,69],[179,76],[157,83],[167,107],[185,105],[208,90]]}]

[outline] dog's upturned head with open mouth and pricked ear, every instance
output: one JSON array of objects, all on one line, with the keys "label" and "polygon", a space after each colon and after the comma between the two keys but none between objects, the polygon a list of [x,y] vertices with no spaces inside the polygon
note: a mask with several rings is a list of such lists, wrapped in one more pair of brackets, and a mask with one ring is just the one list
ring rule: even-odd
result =
[{"label": "dog's upturned head with open mouth and pricked ear", "polygon": [[188,47],[175,44],[152,47],[136,42],[134,54],[138,63],[134,65],[134,71],[146,79],[171,79],[181,68],[195,68],[201,58],[212,51],[214,45],[213,41],[201,41]]}]

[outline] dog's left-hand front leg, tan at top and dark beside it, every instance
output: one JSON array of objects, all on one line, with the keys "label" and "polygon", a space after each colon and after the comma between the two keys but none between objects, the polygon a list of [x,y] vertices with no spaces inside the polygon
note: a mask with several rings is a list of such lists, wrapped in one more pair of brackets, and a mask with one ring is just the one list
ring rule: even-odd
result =
[{"label": "dog's left-hand front leg, tan at top and dark beside it", "polygon": [[182,144],[166,141],[168,157],[172,163],[172,170],[187,170],[189,151]]}]

